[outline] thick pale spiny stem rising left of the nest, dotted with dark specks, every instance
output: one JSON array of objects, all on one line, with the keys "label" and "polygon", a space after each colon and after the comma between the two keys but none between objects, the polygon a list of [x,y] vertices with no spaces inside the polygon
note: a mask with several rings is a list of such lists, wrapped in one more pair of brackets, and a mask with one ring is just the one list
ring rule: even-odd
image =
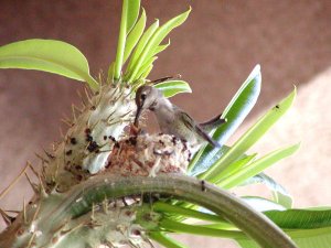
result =
[{"label": "thick pale spiny stem rising left of the nest, dotted with dark specks", "polygon": [[105,168],[114,143],[132,119],[136,106],[130,91],[130,87],[114,84],[100,86],[93,96],[85,90],[82,114],[66,121],[70,129],[64,140],[43,161],[47,190],[56,186],[57,192],[65,192]]}]

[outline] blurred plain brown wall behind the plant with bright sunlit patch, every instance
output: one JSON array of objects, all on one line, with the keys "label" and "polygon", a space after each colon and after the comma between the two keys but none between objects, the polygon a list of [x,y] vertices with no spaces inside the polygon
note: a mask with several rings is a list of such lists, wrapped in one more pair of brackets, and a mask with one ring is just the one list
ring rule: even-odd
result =
[{"label": "blurred plain brown wall behind the plant with bright sunlit patch", "polygon": [[[0,45],[32,37],[66,41],[86,55],[97,75],[114,60],[120,6],[118,0],[1,1]],[[149,23],[193,9],[171,33],[171,45],[150,78],[181,74],[193,94],[173,101],[196,120],[221,112],[256,64],[263,73],[260,98],[236,137],[297,85],[292,110],[252,151],[264,154],[301,141],[295,157],[268,172],[295,196],[296,206],[331,205],[331,2],[145,0],[142,6]],[[58,140],[60,118],[78,103],[79,88],[81,83],[46,73],[0,71],[0,188],[26,160],[38,163],[34,152]],[[264,188],[249,192],[266,194]],[[0,205],[20,209],[30,195],[21,180]],[[217,239],[181,239],[191,247],[235,247]]]}]

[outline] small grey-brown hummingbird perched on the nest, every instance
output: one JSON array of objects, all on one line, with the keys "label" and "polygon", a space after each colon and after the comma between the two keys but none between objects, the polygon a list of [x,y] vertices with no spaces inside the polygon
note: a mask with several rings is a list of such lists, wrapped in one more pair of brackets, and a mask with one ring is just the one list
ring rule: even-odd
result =
[{"label": "small grey-brown hummingbird perched on the nest", "polygon": [[138,127],[141,112],[149,109],[156,115],[161,132],[185,140],[192,147],[204,142],[209,142],[213,148],[220,147],[207,131],[226,122],[226,119],[221,118],[222,114],[206,122],[197,123],[185,111],[171,104],[160,89],[147,85],[137,89],[136,105],[137,112],[134,122],[136,127]]}]

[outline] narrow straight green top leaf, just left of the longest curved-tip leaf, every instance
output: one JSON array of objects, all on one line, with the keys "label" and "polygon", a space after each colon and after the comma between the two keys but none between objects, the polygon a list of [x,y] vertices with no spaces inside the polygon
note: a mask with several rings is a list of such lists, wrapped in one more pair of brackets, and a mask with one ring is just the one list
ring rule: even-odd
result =
[{"label": "narrow straight green top leaf, just left of the longest curved-tip leaf", "polygon": [[157,20],[153,24],[151,24],[148,30],[142,34],[141,39],[139,40],[136,48],[134,50],[134,53],[130,57],[129,64],[127,66],[127,71],[125,74],[125,80],[127,80],[128,76],[131,74],[132,68],[135,67],[141,52],[143,51],[146,44],[150,40],[150,37],[153,35],[153,33],[159,28],[159,20]]}]

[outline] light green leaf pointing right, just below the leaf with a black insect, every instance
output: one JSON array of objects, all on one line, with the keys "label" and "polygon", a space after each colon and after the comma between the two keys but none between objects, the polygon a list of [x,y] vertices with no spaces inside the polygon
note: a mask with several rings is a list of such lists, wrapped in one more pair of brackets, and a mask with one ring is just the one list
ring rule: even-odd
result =
[{"label": "light green leaf pointing right, just below the leaf with a black insect", "polygon": [[293,154],[299,149],[299,144],[295,144],[270,152],[267,155],[252,162],[247,166],[242,168],[242,170],[227,176],[226,179],[218,179],[217,175],[210,179],[212,182],[217,182],[217,185],[223,188],[231,188],[237,186],[238,184],[245,182],[247,179],[263,172],[274,163],[277,163],[279,160]]}]

